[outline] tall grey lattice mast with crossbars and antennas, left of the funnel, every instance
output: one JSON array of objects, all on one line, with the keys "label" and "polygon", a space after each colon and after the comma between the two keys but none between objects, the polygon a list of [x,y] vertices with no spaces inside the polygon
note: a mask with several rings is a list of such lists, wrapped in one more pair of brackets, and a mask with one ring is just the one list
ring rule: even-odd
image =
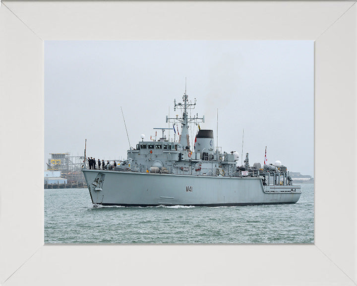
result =
[{"label": "tall grey lattice mast with crossbars and antennas, left of the funnel", "polygon": [[178,116],[176,118],[169,118],[168,116],[166,116],[166,122],[180,123],[182,125],[182,130],[179,137],[179,143],[181,143],[184,150],[190,150],[188,124],[204,122],[204,116],[202,116],[202,118],[198,118],[198,114],[197,114],[196,116],[194,115],[192,118],[188,117],[187,110],[194,109],[196,105],[196,98],[194,99],[194,103],[189,102],[188,95],[186,94],[186,88],[182,96],[182,101],[183,101],[182,103],[181,102],[176,103],[176,99],[174,100],[174,110],[175,111],[176,109],[183,110],[182,118],[179,118]]}]

